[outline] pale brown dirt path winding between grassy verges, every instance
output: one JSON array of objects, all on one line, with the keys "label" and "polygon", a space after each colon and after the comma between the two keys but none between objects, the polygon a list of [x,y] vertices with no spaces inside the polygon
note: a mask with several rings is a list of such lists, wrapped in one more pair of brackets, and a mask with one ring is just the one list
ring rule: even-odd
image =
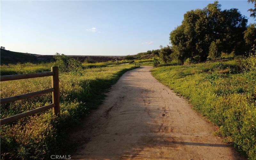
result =
[{"label": "pale brown dirt path winding between grassy verges", "polygon": [[71,134],[72,159],[244,159],[150,69],[128,71],[112,86]]}]

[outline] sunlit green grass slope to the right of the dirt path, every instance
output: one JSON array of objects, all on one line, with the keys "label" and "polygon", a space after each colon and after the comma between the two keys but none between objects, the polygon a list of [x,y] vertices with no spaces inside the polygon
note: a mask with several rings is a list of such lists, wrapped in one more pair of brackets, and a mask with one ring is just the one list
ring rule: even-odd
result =
[{"label": "sunlit green grass slope to the right of the dirt path", "polygon": [[[254,59],[255,60],[255,59]],[[255,65],[255,64],[254,64]],[[152,75],[220,126],[238,150],[256,158],[256,71],[242,72],[235,60],[152,69]]]}]

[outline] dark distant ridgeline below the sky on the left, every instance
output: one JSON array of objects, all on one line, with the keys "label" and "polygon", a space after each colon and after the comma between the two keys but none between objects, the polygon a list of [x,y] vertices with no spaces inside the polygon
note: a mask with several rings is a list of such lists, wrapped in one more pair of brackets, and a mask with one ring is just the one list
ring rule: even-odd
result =
[{"label": "dark distant ridgeline below the sky on the left", "polygon": [[[124,56],[70,56],[74,59],[78,59],[82,62],[84,60],[88,60],[91,62],[103,62],[109,60],[115,60],[116,58],[123,59]],[[0,63],[4,64],[16,64],[20,63],[42,63],[42,62],[51,62],[54,61],[53,55],[39,55],[39,54],[31,54],[31,53],[22,53],[22,52],[12,52],[8,50],[4,50],[1,48],[0,50]]]}]

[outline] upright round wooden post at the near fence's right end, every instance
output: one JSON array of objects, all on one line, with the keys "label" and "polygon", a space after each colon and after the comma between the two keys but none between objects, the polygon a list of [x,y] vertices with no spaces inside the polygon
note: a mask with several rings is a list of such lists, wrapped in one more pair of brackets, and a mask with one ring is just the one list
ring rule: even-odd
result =
[{"label": "upright round wooden post at the near fence's right end", "polygon": [[55,104],[53,108],[53,114],[56,116],[60,115],[60,89],[59,89],[59,68],[54,66],[51,68],[51,71],[54,72],[52,76],[52,88],[54,91],[52,92],[52,103]]}]

